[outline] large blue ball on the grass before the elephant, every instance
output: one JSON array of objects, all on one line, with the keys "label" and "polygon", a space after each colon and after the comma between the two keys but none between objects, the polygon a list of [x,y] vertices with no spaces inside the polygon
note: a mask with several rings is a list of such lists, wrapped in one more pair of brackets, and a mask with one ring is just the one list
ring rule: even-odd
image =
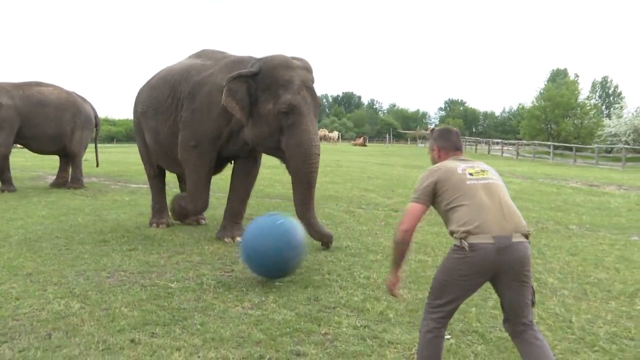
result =
[{"label": "large blue ball on the grass before the elephant", "polygon": [[307,256],[307,231],[289,215],[260,215],[244,229],[240,254],[253,274],[271,280],[287,277]]}]

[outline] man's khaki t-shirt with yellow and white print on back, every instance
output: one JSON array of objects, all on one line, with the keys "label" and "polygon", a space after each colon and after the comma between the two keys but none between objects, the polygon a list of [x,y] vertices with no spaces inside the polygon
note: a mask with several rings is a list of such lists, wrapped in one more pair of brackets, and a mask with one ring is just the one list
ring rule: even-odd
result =
[{"label": "man's khaki t-shirt with yellow and white print on back", "polygon": [[454,238],[529,234],[499,174],[482,161],[452,156],[429,167],[410,202],[432,206]]}]

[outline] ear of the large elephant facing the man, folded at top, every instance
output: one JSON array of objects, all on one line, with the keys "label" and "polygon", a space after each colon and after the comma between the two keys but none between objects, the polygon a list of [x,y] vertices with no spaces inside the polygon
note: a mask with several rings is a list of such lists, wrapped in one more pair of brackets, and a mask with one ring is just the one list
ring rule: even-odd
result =
[{"label": "ear of the large elephant facing the man, folded at top", "polygon": [[244,124],[249,121],[252,104],[255,102],[253,76],[258,71],[258,69],[246,69],[234,72],[228,76],[222,92],[222,105]]}]

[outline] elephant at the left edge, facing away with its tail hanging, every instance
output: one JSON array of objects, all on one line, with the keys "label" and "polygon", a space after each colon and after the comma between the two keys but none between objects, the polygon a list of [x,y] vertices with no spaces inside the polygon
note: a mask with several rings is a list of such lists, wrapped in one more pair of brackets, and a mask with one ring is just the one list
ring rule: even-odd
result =
[{"label": "elephant at the left edge, facing away with its tail hanging", "polygon": [[94,129],[99,167],[100,118],[91,102],[41,81],[0,83],[0,192],[16,190],[9,165],[13,144],[60,158],[52,188],[84,188],[82,160]]}]

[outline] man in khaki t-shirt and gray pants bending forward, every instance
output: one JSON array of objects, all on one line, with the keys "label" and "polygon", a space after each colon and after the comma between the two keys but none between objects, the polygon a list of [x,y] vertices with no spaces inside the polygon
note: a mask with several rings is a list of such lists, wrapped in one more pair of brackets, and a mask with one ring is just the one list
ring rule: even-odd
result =
[{"label": "man in khaki t-shirt and gray pants bending forward", "polygon": [[458,307],[490,282],[500,299],[503,325],[524,360],[554,356],[536,329],[532,307],[529,231],[499,174],[481,161],[463,158],[460,133],[431,129],[431,164],[420,176],[394,238],[390,294],[397,297],[399,272],[413,231],[429,207],[442,218],[454,246],[436,270],[420,325],[417,359],[442,359],[444,335]]}]

